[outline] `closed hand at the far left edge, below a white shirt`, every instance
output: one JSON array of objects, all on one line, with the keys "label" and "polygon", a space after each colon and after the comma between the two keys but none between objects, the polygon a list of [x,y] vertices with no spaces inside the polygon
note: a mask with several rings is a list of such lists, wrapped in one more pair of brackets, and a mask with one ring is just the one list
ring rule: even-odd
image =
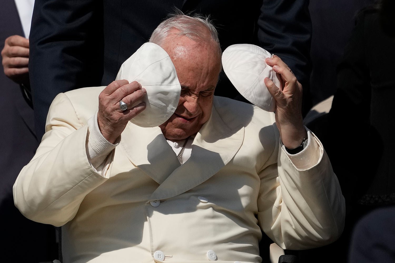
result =
[{"label": "closed hand at the far left edge, below a white shirt", "polygon": [[4,74],[18,84],[28,84],[29,39],[20,35],[7,37],[1,55]]}]

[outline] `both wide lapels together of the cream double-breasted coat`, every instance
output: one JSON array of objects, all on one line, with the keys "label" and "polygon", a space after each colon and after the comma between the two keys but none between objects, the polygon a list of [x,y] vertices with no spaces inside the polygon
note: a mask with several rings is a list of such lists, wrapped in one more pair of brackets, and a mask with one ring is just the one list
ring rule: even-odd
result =
[{"label": "both wide lapels together of the cream double-breasted coat", "polygon": [[213,106],[210,119],[195,136],[191,157],[182,165],[159,127],[128,123],[119,146],[135,166],[159,184],[150,200],[162,200],[182,194],[217,173],[235,156],[243,139],[244,127],[230,129]]}]

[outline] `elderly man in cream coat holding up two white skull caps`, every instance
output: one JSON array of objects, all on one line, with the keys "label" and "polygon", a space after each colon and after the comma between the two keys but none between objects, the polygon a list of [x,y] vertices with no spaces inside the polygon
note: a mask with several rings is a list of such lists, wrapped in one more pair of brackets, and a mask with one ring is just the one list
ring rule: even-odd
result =
[{"label": "elderly man in cream coat holding up two white skull caps", "polygon": [[15,182],[26,217],[62,226],[64,262],[258,263],[261,231],[288,249],[337,239],[344,198],[303,127],[301,85],[287,65],[266,61],[284,81],[280,90],[265,79],[273,114],[213,95],[221,52],[207,20],[171,17],[150,42],[177,71],[175,113],[159,127],[131,123],[147,90],[127,80],[61,93]]}]

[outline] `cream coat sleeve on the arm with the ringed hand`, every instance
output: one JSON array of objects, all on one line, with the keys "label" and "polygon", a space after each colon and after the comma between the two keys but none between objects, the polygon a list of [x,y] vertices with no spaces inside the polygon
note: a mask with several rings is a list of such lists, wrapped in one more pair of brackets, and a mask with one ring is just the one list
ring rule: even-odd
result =
[{"label": "cream coat sleeve on the arm with the ringed hand", "polygon": [[110,174],[113,152],[98,173],[87,157],[88,125],[83,125],[70,99],[60,93],[51,104],[47,132],[33,159],[13,186],[15,206],[27,218],[62,226],[79,209],[85,196]]}]

